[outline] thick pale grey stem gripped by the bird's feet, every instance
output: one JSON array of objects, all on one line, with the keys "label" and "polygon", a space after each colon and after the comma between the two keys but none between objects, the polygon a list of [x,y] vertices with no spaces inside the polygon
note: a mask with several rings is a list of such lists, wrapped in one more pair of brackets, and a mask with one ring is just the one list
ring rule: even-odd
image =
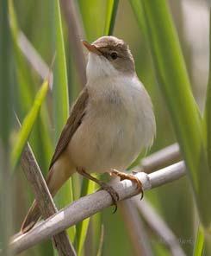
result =
[{"label": "thick pale grey stem gripped by the bird's feet", "polygon": [[[185,173],[185,164],[179,162],[152,174],[147,175],[146,173],[139,172],[135,176],[140,179],[143,189],[147,190],[177,180],[184,176]],[[129,180],[117,182],[113,188],[119,194],[120,200],[127,199],[139,193],[136,184]],[[54,234],[65,230],[65,228],[76,225],[79,221],[83,221],[103,208],[109,207],[112,203],[110,195],[104,190],[81,197],[78,201],[72,202],[68,207],[38,224],[28,234],[16,236],[12,240],[11,246],[16,253],[20,253],[30,246],[39,243],[41,240],[46,240]]]}]

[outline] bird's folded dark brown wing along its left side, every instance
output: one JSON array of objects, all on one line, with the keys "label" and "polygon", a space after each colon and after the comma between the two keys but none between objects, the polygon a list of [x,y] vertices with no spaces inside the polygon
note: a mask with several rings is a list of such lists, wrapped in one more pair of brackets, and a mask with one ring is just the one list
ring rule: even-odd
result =
[{"label": "bird's folded dark brown wing along its left side", "polygon": [[56,146],[56,150],[53,154],[52,161],[50,163],[49,170],[53,166],[53,163],[57,161],[60,154],[65,150],[67,144],[69,144],[72,135],[77,131],[78,126],[81,124],[85,115],[85,108],[87,106],[89,94],[87,88],[80,93],[77,101],[72,106],[70,117],[67,119],[66,125],[61,132],[59,142]]}]

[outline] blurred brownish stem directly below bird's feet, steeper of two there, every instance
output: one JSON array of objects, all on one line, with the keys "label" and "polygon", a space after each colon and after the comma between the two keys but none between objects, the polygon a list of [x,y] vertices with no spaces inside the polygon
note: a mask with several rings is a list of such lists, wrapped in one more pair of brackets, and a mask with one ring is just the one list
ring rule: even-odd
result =
[{"label": "blurred brownish stem directly below bird's feet, steeper of two there", "polygon": [[152,256],[152,248],[147,238],[146,230],[140,219],[137,208],[134,207],[133,202],[131,202],[131,198],[119,204],[135,255]]}]

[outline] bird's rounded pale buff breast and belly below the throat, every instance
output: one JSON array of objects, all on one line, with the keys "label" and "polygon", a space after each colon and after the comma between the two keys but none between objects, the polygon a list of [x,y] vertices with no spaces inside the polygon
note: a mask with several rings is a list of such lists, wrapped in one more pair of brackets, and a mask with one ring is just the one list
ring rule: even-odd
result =
[{"label": "bird's rounded pale buff breast and belly below the throat", "polygon": [[140,81],[104,86],[90,88],[86,114],[68,147],[72,162],[88,172],[126,169],[154,136],[152,103]]}]

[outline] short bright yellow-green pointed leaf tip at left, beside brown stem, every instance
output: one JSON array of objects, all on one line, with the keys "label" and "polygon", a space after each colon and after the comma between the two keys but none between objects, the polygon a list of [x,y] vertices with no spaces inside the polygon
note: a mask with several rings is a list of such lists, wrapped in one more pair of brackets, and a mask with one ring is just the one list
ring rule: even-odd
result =
[{"label": "short bright yellow-green pointed leaf tip at left, beside brown stem", "polygon": [[11,163],[14,169],[16,168],[16,165],[20,160],[20,157],[22,155],[22,150],[24,149],[25,144],[28,142],[29,135],[34,126],[34,122],[38,118],[40,106],[43,103],[44,99],[46,98],[47,90],[48,90],[48,80],[45,80],[34,99],[34,104],[31,110],[28,112],[28,115],[23,120],[22,128],[17,134],[16,143],[14,144],[14,148],[11,152]]}]

